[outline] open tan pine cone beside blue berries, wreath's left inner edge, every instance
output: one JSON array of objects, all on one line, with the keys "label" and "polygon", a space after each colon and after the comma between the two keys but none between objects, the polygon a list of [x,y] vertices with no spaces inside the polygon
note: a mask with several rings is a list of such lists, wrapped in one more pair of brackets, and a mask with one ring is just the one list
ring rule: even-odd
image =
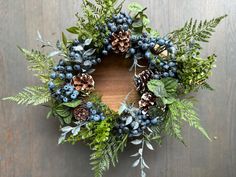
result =
[{"label": "open tan pine cone beside blue berries, wreath's left inner edge", "polygon": [[72,80],[72,85],[74,85],[77,91],[84,91],[86,93],[94,90],[94,84],[95,82],[93,80],[93,77],[88,74],[75,76]]}]

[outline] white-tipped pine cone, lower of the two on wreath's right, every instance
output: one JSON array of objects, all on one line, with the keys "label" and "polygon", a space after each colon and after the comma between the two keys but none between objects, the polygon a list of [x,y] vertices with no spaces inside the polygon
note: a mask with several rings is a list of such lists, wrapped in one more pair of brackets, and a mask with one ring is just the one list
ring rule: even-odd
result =
[{"label": "white-tipped pine cone, lower of the two on wreath's right", "polygon": [[142,95],[141,100],[139,101],[139,108],[144,111],[147,111],[151,106],[156,104],[156,96],[150,92],[146,92]]}]

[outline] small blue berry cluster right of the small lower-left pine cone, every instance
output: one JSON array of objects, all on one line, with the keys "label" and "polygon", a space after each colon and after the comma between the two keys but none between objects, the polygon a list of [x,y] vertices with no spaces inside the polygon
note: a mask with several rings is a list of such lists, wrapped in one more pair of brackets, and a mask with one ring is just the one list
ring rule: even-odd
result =
[{"label": "small blue berry cluster right of the small lower-left pine cone", "polygon": [[86,108],[89,109],[90,112],[88,120],[98,122],[105,119],[103,113],[97,110],[96,106],[92,102],[87,102]]}]

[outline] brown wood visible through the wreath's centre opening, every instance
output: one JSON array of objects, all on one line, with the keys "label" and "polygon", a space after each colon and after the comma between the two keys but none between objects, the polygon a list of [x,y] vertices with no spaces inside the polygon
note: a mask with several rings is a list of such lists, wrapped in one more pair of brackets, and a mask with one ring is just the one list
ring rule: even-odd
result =
[{"label": "brown wood visible through the wreath's centre opening", "polygon": [[[137,74],[145,70],[147,66],[145,61],[139,63],[144,68],[138,68]],[[125,59],[124,56],[110,55],[96,66],[93,74],[96,91],[102,94],[102,101],[115,111],[128,94],[129,101],[136,104],[140,98],[134,84],[135,71],[134,69],[129,71],[132,64],[132,60]]]}]

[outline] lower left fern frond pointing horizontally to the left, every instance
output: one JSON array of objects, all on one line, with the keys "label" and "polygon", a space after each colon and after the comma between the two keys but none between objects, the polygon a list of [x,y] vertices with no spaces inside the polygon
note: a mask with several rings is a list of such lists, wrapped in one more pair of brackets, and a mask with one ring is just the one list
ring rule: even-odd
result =
[{"label": "lower left fern frond pointing horizontally to the left", "polygon": [[50,92],[47,87],[33,86],[26,87],[24,91],[18,93],[16,96],[3,98],[3,100],[14,101],[17,104],[26,105],[40,105],[47,103],[50,100]]}]

